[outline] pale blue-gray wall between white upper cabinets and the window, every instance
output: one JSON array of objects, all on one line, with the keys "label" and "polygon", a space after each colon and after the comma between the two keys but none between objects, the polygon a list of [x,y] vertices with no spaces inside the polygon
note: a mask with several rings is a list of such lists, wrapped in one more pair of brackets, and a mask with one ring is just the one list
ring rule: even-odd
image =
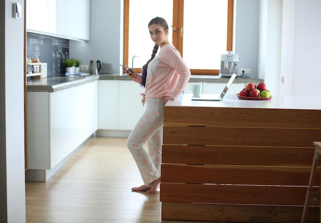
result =
[{"label": "pale blue-gray wall between white upper cabinets and the window", "polygon": [[[91,59],[111,64],[112,73],[120,73],[123,60],[124,0],[90,1],[90,40],[82,43],[70,40],[70,57],[89,65]],[[120,60],[121,59],[121,60]]]}]

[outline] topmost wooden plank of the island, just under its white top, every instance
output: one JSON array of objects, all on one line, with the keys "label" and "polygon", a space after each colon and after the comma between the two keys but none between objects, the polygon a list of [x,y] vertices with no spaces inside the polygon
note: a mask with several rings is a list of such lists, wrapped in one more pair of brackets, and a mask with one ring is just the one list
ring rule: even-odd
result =
[{"label": "topmost wooden plank of the island, just under its white top", "polygon": [[164,125],[321,128],[320,110],[166,107]]}]

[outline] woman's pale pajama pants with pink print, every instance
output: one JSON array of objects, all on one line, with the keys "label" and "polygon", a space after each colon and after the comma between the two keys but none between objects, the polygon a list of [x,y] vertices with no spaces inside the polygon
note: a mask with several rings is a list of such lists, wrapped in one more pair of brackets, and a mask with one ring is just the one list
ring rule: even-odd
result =
[{"label": "woman's pale pajama pants with pink print", "polygon": [[[164,124],[164,98],[146,98],[146,111],[130,133],[127,147],[136,161],[144,185],[160,177]],[[148,152],[143,145],[147,142]]]}]

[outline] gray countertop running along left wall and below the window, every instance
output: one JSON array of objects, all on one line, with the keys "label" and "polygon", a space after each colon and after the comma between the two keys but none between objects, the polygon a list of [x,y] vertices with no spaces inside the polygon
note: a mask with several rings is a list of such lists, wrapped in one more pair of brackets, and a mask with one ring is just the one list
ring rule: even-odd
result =
[{"label": "gray countertop running along left wall and below the window", "polygon": [[[54,76],[41,79],[33,79],[32,84],[27,85],[27,91],[37,92],[54,92],[66,88],[82,85],[94,80],[132,80],[127,75],[119,74],[101,74],[89,76]],[[209,76],[209,75],[192,75],[189,82],[211,82],[211,83],[227,83],[229,77]],[[234,83],[259,83],[263,79],[256,78],[236,78]]]}]

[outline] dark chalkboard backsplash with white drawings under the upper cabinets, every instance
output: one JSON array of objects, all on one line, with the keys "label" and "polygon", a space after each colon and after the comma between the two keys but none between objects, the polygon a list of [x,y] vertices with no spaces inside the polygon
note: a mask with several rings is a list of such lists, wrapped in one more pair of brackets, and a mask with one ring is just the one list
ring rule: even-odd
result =
[{"label": "dark chalkboard backsplash with white drawings under the upper cabinets", "polygon": [[64,60],[69,58],[69,40],[27,32],[27,58],[47,63],[47,76],[65,74]]}]

